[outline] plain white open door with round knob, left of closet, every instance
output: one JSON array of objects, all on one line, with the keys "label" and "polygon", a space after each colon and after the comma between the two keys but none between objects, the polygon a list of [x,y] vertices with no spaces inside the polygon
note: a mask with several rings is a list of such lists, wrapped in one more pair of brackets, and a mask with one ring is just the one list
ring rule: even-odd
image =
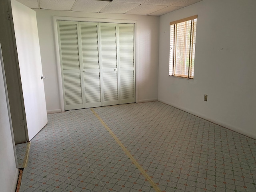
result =
[{"label": "plain white open door with round knob, left of closet", "polygon": [[47,124],[36,12],[15,0],[11,2],[28,140],[31,140]]}]

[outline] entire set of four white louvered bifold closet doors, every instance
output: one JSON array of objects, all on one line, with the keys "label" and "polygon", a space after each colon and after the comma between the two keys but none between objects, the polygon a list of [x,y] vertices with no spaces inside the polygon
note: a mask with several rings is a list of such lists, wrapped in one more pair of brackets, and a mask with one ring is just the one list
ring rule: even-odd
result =
[{"label": "entire set of four white louvered bifold closet doors", "polygon": [[65,110],[135,102],[134,24],[57,24]]}]

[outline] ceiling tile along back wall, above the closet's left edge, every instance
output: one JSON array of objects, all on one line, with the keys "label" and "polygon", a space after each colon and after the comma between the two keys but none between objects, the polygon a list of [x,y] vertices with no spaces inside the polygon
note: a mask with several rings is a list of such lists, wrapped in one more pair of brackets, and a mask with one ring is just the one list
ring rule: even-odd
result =
[{"label": "ceiling tile along back wall, above the closet's left edge", "polygon": [[50,10],[71,10],[75,0],[39,0],[40,8]]}]

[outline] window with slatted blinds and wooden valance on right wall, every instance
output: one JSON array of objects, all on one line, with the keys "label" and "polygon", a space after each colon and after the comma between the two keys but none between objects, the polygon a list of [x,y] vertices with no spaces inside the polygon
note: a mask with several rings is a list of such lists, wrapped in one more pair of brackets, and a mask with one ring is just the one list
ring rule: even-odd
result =
[{"label": "window with slatted blinds and wooden valance on right wall", "polygon": [[169,76],[194,78],[197,15],[170,22]]}]

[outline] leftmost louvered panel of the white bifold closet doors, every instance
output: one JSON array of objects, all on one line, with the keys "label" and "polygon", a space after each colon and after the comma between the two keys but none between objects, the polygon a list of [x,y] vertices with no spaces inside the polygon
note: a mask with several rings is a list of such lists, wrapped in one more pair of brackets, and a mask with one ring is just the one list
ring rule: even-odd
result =
[{"label": "leftmost louvered panel of the white bifold closet doors", "polygon": [[78,22],[58,21],[65,110],[84,108],[78,46]]}]

